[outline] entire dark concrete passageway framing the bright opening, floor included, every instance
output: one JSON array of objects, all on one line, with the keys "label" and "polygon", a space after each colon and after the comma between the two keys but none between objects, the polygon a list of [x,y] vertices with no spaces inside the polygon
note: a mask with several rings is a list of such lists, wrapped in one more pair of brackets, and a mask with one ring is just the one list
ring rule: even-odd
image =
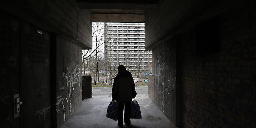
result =
[{"label": "entire dark concrete passageway framing the bright opening, floor included", "polygon": [[2,0],[0,17],[0,128],[117,127],[111,89],[82,100],[92,22],[145,24],[134,127],[256,128],[256,0]]}]

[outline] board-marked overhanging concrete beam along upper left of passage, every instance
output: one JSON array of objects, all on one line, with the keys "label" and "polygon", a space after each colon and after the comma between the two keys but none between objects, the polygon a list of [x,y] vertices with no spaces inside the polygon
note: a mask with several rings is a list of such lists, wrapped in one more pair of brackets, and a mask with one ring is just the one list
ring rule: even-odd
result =
[{"label": "board-marked overhanging concrete beam along upper left of passage", "polygon": [[[79,34],[78,30],[80,30],[79,26],[74,27],[70,23],[71,20],[69,21],[63,18],[68,14],[65,14],[63,16],[61,14],[64,14],[65,12],[61,12],[60,11],[61,9],[59,9],[58,11],[53,10],[52,8],[57,8],[55,7],[56,5],[54,5],[53,3],[44,3],[44,1],[38,1],[35,3],[30,3],[29,1],[17,1],[17,2],[1,1],[0,10],[4,10],[50,33],[59,34],[62,37],[65,37],[66,39],[69,39],[73,43],[81,46],[83,49],[92,49],[91,40],[84,40],[83,37],[78,36]],[[40,8],[41,7],[40,4],[42,5],[43,3],[45,5],[44,8],[45,9],[47,8],[47,11],[42,11],[42,9]],[[61,8],[65,8],[65,7],[61,6]],[[73,15],[76,15],[76,14],[73,14]],[[79,17],[77,16],[73,19],[75,20],[75,22],[77,22],[77,24],[79,24],[78,18]],[[89,18],[91,18],[91,16],[87,17],[88,20]],[[82,26],[82,27],[85,27],[85,26]],[[88,29],[91,29],[91,28],[88,27]]]}]

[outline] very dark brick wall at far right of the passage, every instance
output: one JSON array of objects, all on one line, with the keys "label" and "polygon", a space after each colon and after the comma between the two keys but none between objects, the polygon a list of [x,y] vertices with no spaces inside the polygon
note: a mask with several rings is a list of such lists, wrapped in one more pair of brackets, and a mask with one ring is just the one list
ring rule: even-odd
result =
[{"label": "very dark brick wall at far right of the passage", "polygon": [[220,15],[216,54],[196,55],[196,32],[183,34],[184,127],[256,126],[255,5],[244,1],[239,8]]}]

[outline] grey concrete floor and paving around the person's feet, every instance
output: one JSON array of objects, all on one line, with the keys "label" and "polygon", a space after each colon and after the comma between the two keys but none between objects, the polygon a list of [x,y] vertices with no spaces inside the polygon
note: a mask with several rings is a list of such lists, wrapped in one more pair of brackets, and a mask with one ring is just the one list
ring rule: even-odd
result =
[{"label": "grey concrete floor and paving around the person's feet", "polygon": [[[136,87],[142,119],[131,119],[124,128],[176,128],[147,94],[148,87]],[[93,97],[84,99],[83,105],[60,128],[119,128],[117,121],[106,118],[111,99],[111,87],[93,88]]]}]

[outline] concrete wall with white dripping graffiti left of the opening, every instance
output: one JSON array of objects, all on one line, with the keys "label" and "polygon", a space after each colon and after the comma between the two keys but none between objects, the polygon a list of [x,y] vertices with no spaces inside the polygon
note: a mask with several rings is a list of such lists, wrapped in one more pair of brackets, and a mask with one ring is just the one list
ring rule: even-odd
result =
[{"label": "concrete wall with white dripping graffiti left of the opening", "polygon": [[82,48],[56,37],[57,127],[82,105]]}]

